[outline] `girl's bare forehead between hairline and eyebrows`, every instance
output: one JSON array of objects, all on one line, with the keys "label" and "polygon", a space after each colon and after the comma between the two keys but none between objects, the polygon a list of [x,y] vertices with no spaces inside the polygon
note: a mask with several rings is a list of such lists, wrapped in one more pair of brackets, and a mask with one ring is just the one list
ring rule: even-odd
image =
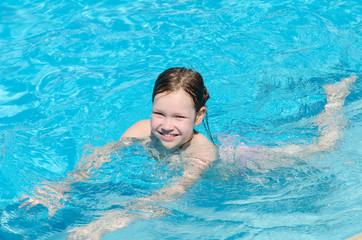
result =
[{"label": "girl's bare forehead between hairline and eyebrows", "polygon": [[178,89],[172,92],[163,92],[155,96],[153,101],[154,107],[163,107],[178,110],[193,110],[195,111],[192,98],[183,89]]}]

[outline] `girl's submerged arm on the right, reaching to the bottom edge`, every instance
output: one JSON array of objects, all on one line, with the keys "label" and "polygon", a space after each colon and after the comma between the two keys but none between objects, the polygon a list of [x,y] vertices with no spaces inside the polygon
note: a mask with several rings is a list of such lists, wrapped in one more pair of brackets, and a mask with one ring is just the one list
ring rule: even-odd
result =
[{"label": "girl's submerged arm on the right, reaching to the bottom edge", "polygon": [[[202,151],[201,151],[202,152]],[[182,177],[175,180],[175,184],[161,188],[150,197],[132,200],[124,210],[110,210],[105,212],[96,221],[84,227],[77,227],[69,232],[67,239],[91,238],[100,239],[109,232],[124,228],[131,222],[167,214],[167,209],[160,205],[165,202],[179,199],[188,188],[193,186],[200,175],[217,158],[216,149],[208,149],[203,158],[188,157]]]}]

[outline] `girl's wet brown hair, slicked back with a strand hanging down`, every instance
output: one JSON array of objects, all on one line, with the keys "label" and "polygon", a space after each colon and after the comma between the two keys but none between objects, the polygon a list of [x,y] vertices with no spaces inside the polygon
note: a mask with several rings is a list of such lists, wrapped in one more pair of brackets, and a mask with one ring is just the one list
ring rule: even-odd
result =
[{"label": "girl's wet brown hair, slicked back with a strand hanging down", "polygon": [[[158,76],[153,87],[152,102],[157,94],[174,92],[180,88],[190,95],[196,113],[199,112],[201,107],[205,106],[206,101],[210,98],[200,73],[184,67],[175,67],[165,70]],[[207,134],[214,143],[207,118],[206,111],[205,118],[202,122]]]}]

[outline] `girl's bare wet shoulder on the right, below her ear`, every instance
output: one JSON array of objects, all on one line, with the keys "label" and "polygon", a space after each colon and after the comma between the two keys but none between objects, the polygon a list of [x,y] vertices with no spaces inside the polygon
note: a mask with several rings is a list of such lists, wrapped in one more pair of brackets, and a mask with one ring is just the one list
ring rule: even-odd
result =
[{"label": "girl's bare wet shoulder on the right, below her ear", "polygon": [[207,164],[212,163],[218,158],[216,146],[201,133],[195,134],[185,152],[187,156],[200,159]]}]

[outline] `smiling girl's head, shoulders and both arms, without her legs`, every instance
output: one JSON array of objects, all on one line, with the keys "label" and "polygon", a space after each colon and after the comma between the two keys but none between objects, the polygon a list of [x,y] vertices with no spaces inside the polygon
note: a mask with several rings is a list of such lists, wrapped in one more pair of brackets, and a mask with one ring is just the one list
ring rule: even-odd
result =
[{"label": "smiling girl's head, shoulders and both arms, without her legs", "polygon": [[[153,154],[154,157],[180,156],[186,163],[182,177],[174,180],[176,184],[162,188],[148,198],[137,199],[136,204],[129,206],[125,211],[109,211],[86,227],[73,229],[74,233],[69,239],[81,237],[99,239],[137,218],[152,216],[152,213],[156,212],[149,208],[148,203],[176,199],[217,159],[216,146],[203,134],[194,130],[194,126],[200,125],[206,117],[205,127],[212,140],[205,106],[208,99],[209,93],[198,72],[186,68],[171,68],[164,71],[154,85],[151,119],[139,121],[131,126],[119,141],[96,148],[92,154],[80,161],[76,170],[68,173],[65,181],[44,183],[36,188],[30,198],[23,195],[20,199],[29,198],[29,200],[20,207],[30,204],[29,209],[37,204],[43,204],[48,207],[49,215],[54,215],[69,197],[64,192],[70,189],[70,184],[91,177],[94,169],[98,169],[103,162],[110,161],[112,152],[128,146],[133,142],[132,139],[137,138],[141,139],[147,148],[157,149],[157,154]],[[130,214],[129,210],[144,214]]]}]

